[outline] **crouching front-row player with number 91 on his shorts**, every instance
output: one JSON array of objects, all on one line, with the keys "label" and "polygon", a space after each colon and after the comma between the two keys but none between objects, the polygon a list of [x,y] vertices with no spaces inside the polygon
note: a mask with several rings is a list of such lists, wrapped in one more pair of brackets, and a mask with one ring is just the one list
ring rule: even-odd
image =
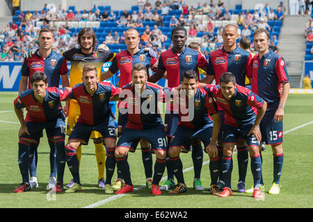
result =
[{"label": "crouching front-row player with number 91 on his shorts", "polygon": [[160,195],[159,182],[166,167],[166,133],[157,103],[163,101],[163,90],[157,85],[147,83],[147,68],[140,63],[131,69],[132,83],[122,87],[120,109],[127,103],[128,121],[125,130],[116,144],[115,158],[118,169],[122,171],[125,185],[116,194],[134,191],[131,173],[127,162],[129,148],[139,139],[146,139],[154,149],[156,162],[152,178],[151,191]]}]

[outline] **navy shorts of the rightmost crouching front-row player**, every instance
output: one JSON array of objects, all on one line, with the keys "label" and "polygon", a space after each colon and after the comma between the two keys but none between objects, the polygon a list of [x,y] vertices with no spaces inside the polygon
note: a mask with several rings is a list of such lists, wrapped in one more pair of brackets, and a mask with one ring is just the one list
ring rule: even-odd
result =
[{"label": "navy shorts of the rightmost crouching front-row player", "polygon": [[257,141],[257,138],[255,138],[255,135],[251,133],[249,136],[247,136],[251,127],[246,128],[246,130],[241,130],[240,128],[225,124],[223,130],[223,143],[246,141],[248,146],[259,146],[259,142]]}]

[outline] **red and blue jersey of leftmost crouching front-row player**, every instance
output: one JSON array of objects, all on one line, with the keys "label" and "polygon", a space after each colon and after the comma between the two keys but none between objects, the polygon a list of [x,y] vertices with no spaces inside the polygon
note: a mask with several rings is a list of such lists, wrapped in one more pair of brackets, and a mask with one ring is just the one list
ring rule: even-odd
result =
[{"label": "red and blue jersey of leftmost crouching front-row player", "polygon": [[39,103],[33,94],[33,89],[27,89],[19,94],[14,101],[17,109],[26,108],[25,121],[45,123],[56,119],[65,119],[61,101],[63,101],[69,90],[67,88],[48,87],[46,96],[42,103]]}]

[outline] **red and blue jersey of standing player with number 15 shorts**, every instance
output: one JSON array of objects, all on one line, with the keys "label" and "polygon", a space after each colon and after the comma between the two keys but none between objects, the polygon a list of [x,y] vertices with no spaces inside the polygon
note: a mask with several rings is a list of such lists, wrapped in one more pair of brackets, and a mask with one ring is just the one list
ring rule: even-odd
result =
[{"label": "red and blue jersey of standing player with number 15 shorts", "polygon": [[279,88],[281,83],[289,83],[284,58],[273,51],[268,51],[262,58],[256,54],[248,73],[252,78],[252,92],[268,103],[268,108],[280,103]]}]

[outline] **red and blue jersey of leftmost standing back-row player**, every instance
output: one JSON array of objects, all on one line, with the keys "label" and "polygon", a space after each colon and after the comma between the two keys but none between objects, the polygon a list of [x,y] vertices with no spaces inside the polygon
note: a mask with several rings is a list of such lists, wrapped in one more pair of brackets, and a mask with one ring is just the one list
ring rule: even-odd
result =
[{"label": "red and blue jersey of leftmost standing back-row player", "polygon": [[29,76],[29,86],[31,89],[31,76],[35,71],[43,71],[48,77],[49,87],[58,87],[60,76],[68,72],[65,58],[55,51],[51,51],[47,58],[39,56],[38,52],[33,54],[31,58],[24,60],[22,65],[22,76]]}]

